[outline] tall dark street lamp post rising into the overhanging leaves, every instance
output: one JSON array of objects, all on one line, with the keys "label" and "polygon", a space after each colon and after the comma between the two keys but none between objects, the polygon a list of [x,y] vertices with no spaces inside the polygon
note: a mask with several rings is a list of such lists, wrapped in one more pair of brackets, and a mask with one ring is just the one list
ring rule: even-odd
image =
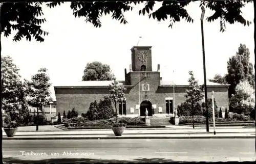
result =
[{"label": "tall dark street lamp post rising into the overhanging leaves", "polygon": [[209,132],[209,118],[208,118],[208,104],[207,104],[207,85],[206,85],[206,69],[205,69],[205,53],[204,53],[204,26],[203,26],[203,19],[204,19],[205,9],[202,9],[201,14],[201,33],[202,33],[202,47],[203,47],[203,65],[204,65],[204,94],[205,94],[205,107],[206,107],[206,131]]}]

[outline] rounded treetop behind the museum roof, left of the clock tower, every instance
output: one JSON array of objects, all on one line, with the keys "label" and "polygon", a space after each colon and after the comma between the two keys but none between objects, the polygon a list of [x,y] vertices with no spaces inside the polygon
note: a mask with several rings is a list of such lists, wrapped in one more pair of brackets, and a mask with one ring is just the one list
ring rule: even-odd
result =
[{"label": "rounded treetop behind the museum roof, left of the clock tower", "polygon": [[102,64],[100,62],[88,63],[86,69],[83,71],[83,81],[95,81],[95,80],[112,80],[114,74],[111,73],[109,65]]}]

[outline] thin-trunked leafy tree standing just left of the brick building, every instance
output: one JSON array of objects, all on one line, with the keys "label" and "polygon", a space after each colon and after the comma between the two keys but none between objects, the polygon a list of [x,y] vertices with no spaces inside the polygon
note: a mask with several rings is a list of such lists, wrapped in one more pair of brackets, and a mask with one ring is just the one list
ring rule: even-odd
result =
[{"label": "thin-trunked leafy tree standing just left of the brick building", "polygon": [[[31,81],[25,80],[25,82],[28,87],[28,102],[31,106],[37,108],[37,118],[39,118],[38,110],[42,111],[42,106],[49,104],[51,98],[51,83],[50,77],[47,75],[47,69],[40,68],[38,72],[31,77]],[[38,130],[38,121],[36,130]]]}]

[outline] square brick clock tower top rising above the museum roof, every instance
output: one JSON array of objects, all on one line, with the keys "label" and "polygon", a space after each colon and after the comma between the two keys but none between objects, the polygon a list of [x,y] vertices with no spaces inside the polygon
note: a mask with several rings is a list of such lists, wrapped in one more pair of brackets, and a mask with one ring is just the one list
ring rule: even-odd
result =
[{"label": "square brick clock tower top rising above the museum roof", "polygon": [[152,71],[151,47],[133,46],[131,49],[133,71]]}]

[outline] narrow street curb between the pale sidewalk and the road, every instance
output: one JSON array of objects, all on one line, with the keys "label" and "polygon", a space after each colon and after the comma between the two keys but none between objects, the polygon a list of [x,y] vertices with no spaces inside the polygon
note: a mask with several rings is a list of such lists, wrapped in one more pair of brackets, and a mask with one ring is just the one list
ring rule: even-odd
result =
[{"label": "narrow street curb between the pale sidewalk and the road", "polygon": [[93,136],[93,137],[49,137],[49,138],[11,138],[3,140],[114,140],[114,139],[255,139],[254,136]]}]

